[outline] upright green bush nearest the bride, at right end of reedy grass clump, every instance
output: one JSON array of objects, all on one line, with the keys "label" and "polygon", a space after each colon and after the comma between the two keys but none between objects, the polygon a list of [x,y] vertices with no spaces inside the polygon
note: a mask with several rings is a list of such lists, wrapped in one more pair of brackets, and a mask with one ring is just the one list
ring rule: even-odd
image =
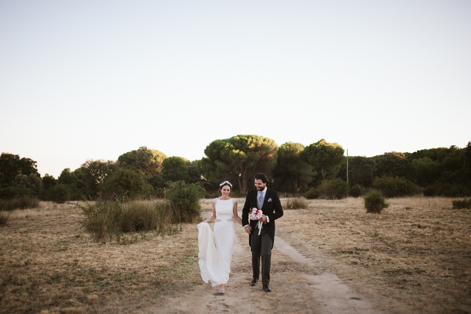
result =
[{"label": "upright green bush nearest the bride, at right end of reedy grass clump", "polygon": [[171,182],[167,191],[167,199],[179,212],[181,222],[195,222],[200,218],[200,199],[204,196],[203,184],[185,183],[184,181]]}]

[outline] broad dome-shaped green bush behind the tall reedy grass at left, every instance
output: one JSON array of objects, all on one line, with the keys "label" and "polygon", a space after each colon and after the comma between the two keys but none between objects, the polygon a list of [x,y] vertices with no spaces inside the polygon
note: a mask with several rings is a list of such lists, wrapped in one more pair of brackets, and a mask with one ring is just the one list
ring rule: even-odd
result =
[{"label": "broad dome-shaped green bush behind the tall reedy grass at left", "polygon": [[134,199],[138,197],[150,197],[155,194],[154,188],[147,183],[144,176],[135,170],[118,168],[102,184],[102,190],[106,199],[121,198]]}]

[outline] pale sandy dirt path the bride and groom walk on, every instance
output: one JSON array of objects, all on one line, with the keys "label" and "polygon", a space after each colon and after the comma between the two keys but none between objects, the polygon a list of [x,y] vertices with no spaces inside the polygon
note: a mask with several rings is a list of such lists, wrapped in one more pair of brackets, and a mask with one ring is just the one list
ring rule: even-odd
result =
[{"label": "pale sandy dirt path the bride and groom walk on", "polygon": [[244,229],[236,228],[225,295],[217,293],[218,287],[202,282],[167,297],[150,313],[390,313],[355,293],[336,275],[320,270],[322,257],[306,258],[278,236],[272,251],[272,292],[263,291],[260,282],[255,287],[249,285],[250,257],[248,236]]}]

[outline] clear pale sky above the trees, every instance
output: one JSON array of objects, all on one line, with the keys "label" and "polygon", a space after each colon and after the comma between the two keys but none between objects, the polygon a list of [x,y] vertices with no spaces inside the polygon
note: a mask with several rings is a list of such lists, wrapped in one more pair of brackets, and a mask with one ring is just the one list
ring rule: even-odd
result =
[{"label": "clear pale sky above the trees", "polygon": [[258,134],[471,141],[471,1],[0,1],[0,150],[56,177]]}]

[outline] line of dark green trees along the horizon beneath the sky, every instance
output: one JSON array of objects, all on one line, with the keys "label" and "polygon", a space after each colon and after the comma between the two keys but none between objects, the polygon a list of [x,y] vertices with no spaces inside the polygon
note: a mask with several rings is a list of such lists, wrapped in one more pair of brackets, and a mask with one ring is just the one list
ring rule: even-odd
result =
[{"label": "line of dark green trees along the horizon beneath the sky", "polygon": [[246,192],[260,172],[268,175],[272,188],[289,193],[341,186],[356,195],[365,188],[398,189],[402,184],[409,186],[403,194],[414,194],[422,187],[425,195],[459,196],[471,189],[471,141],[465,148],[349,156],[348,186],[344,149],[325,139],[306,147],[291,141],[278,146],[268,137],[237,135],[212,141],[204,154],[189,161],[143,146],[117,160],[86,160],[73,171],[64,169],[56,179],[47,173],[41,177],[30,158],[2,153],[0,198],[34,195],[63,202],[81,196],[163,196],[176,181],[201,184],[211,194],[219,182],[228,180],[235,190]]}]

